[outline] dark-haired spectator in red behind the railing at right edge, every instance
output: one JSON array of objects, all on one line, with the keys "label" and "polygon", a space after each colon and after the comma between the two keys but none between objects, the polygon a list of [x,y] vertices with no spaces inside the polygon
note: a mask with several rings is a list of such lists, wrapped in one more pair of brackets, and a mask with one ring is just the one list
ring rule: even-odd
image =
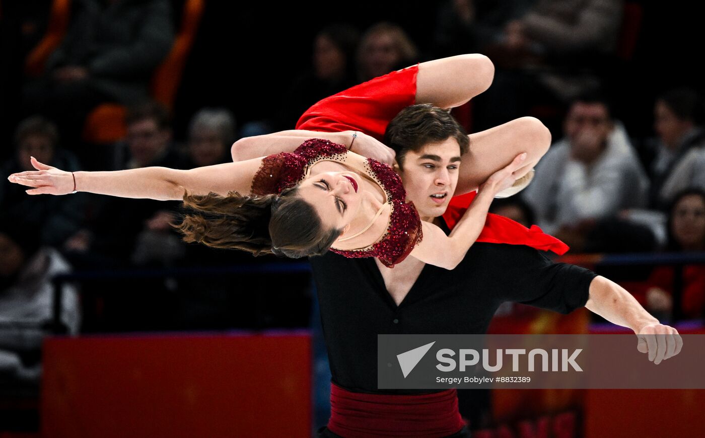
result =
[{"label": "dark-haired spectator in red behind the railing at right edge", "polygon": [[[673,200],[668,216],[670,252],[705,251],[705,191],[687,189]],[[705,267],[698,264],[682,268],[682,315],[699,318],[705,315]],[[673,266],[656,267],[646,289],[646,308],[668,315],[673,310]]]}]

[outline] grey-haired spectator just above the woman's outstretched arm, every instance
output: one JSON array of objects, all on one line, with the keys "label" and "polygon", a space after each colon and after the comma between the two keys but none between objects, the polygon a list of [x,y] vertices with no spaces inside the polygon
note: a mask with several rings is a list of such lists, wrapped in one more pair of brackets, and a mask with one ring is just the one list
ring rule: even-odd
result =
[{"label": "grey-haired spectator just above the woman's outstretched arm", "polygon": [[212,166],[231,161],[235,142],[235,117],[224,108],[204,108],[188,128],[188,157],[183,169]]}]

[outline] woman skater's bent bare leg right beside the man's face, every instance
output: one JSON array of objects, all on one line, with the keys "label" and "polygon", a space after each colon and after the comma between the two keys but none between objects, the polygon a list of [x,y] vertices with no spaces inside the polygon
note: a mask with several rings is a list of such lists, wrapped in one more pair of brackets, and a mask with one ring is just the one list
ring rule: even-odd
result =
[{"label": "woman skater's bent bare leg right beside the man's face", "polygon": [[522,117],[479,133],[470,134],[470,152],[462,156],[455,195],[477,188],[494,172],[522,152],[526,165],[516,177],[527,174],[551,146],[551,133],[538,118]]}]

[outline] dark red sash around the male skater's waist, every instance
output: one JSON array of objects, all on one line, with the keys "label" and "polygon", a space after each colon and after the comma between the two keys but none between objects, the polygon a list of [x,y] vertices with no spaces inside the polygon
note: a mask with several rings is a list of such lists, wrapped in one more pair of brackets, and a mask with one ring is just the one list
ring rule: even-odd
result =
[{"label": "dark red sash around the male skater's waist", "polygon": [[458,391],[433,394],[363,394],[331,384],[328,429],[346,438],[446,437],[465,421],[458,412]]}]

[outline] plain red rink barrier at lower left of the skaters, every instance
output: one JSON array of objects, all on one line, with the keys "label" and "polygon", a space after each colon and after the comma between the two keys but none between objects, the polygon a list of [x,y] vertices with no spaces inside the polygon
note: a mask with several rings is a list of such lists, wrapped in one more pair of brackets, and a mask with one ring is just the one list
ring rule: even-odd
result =
[{"label": "plain red rink barrier at lower left of the skaters", "polygon": [[309,334],[50,338],[42,436],[310,437]]}]

